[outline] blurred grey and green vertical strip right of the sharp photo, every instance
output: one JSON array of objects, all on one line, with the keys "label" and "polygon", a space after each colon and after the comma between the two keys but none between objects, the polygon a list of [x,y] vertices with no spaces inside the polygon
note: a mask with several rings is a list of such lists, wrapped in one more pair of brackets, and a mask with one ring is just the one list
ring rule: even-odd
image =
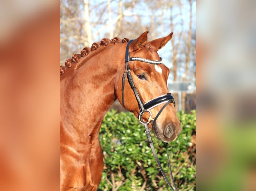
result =
[{"label": "blurred grey and green vertical strip right of the sharp photo", "polygon": [[255,3],[197,4],[199,190],[250,191],[255,184]]}]

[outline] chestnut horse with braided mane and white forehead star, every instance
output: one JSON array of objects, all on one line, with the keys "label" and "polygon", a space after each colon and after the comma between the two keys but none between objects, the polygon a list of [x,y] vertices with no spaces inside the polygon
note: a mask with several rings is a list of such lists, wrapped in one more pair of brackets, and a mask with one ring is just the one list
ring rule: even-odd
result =
[{"label": "chestnut horse with braided mane and white forehead star", "polygon": [[[103,171],[99,131],[104,115],[116,99],[135,116],[140,113],[127,76],[122,88],[126,50],[129,56],[144,59],[127,62],[141,101],[168,93],[169,69],[161,64],[157,51],[172,38],[172,33],[149,42],[147,33],[132,42],[126,38],[105,38],[73,55],[66,66],[60,66],[60,190],[97,190]],[[160,105],[151,109],[152,121],[160,109]],[[146,112],[142,120],[148,119]],[[175,140],[181,130],[173,104],[165,107],[154,125],[148,122],[155,137],[164,142]]]}]

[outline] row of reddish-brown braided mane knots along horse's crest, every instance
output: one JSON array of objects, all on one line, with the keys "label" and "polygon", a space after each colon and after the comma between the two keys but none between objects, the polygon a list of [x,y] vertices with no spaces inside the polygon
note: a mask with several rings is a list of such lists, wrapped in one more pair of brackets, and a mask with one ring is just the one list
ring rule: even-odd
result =
[{"label": "row of reddish-brown braided mane knots along horse's crest", "polygon": [[92,47],[85,47],[82,51],[81,54],[73,54],[72,58],[69,58],[65,62],[65,66],[60,66],[60,75],[63,75],[67,70],[74,71],[79,69],[89,58],[94,56],[96,53],[102,51],[105,47],[107,47],[110,44],[117,44],[117,43],[126,43],[129,42],[130,40],[127,38],[124,38],[122,41],[120,38],[115,37],[112,40],[108,38],[104,38],[101,40],[101,42],[96,42],[92,44]]}]

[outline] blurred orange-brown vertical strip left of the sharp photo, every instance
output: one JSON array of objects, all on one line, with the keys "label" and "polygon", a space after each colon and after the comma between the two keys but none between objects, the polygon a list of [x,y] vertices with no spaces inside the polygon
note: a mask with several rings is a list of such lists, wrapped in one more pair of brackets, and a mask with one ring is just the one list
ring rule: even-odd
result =
[{"label": "blurred orange-brown vertical strip left of the sharp photo", "polygon": [[0,187],[58,190],[59,2],[0,7]]}]

